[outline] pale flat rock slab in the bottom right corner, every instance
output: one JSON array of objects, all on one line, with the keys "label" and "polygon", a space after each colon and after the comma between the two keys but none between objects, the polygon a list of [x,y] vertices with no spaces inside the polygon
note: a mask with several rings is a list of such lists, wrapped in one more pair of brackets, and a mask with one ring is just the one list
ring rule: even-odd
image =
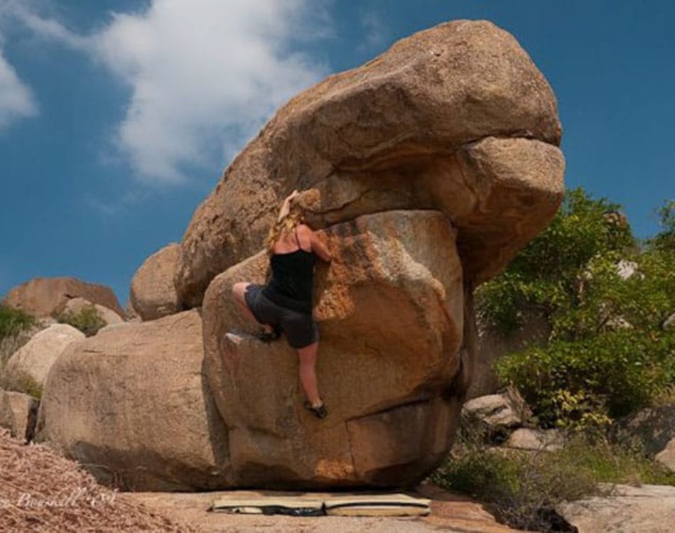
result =
[{"label": "pale flat rock slab in the bottom right corner", "polygon": [[675,524],[675,487],[616,485],[615,494],[556,506],[579,533],[666,533]]}]

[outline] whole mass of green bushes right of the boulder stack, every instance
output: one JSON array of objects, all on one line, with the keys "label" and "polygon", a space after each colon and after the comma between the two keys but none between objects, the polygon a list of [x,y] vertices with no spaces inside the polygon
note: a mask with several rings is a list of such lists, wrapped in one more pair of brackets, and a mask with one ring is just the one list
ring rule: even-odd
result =
[{"label": "whole mass of green bushes right of the boulder stack", "polygon": [[675,203],[642,244],[618,207],[569,192],[551,225],[477,292],[478,313],[504,333],[533,311],[551,325],[544,348],[495,365],[545,426],[608,424],[675,387],[675,334],[662,329],[675,311]]}]

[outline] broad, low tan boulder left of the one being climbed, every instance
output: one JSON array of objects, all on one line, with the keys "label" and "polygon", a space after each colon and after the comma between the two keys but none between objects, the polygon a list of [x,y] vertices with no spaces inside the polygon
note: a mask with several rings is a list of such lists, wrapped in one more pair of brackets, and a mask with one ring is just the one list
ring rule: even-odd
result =
[{"label": "broad, low tan boulder left of the one being climbed", "polygon": [[72,345],[45,384],[36,441],[128,490],[227,486],[227,433],[202,360],[196,310]]}]

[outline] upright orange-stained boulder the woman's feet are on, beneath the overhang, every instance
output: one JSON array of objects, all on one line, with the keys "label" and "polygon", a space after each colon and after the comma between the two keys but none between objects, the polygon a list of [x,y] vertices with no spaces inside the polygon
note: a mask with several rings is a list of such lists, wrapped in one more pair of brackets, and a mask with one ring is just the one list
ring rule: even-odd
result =
[{"label": "upright orange-stained boulder the woman's feet are on, beneath the overhang", "polygon": [[264,281],[266,254],[227,269],[205,296],[205,368],[237,485],[411,484],[450,447],[464,326],[455,230],[442,212],[406,210],[325,235],[340,241],[315,294],[327,419],[303,410],[295,350],[248,335],[255,326],[230,296],[237,281]]}]

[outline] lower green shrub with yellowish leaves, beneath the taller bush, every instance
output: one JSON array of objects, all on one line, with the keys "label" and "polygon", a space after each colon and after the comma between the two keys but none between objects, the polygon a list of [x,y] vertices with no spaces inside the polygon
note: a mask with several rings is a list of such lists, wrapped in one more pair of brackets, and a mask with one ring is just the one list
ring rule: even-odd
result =
[{"label": "lower green shrub with yellowish leaves, beneath the taller bush", "polygon": [[539,423],[571,427],[646,406],[675,378],[675,335],[612,331],[554,341],[497,361],[497,375],[517,384]]}]

